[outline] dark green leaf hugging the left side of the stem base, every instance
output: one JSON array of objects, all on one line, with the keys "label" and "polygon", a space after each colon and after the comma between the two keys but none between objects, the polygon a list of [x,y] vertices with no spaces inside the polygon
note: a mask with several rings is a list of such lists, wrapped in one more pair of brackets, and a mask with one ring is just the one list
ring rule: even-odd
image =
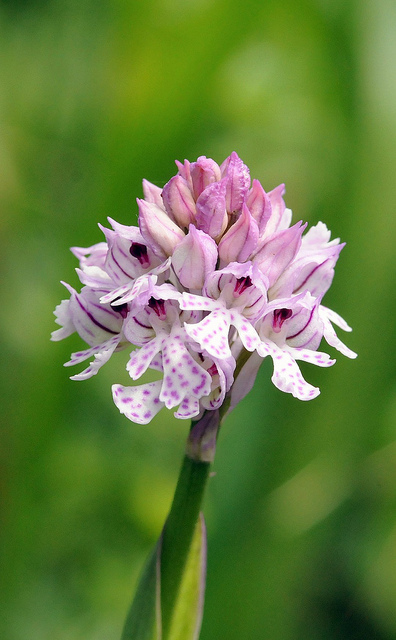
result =
[{"label": "dark green leaf hugging the left side of the stem base", "polygon": [[162,536],[147,559],[121,640],[161,640],[160,570]]}]

